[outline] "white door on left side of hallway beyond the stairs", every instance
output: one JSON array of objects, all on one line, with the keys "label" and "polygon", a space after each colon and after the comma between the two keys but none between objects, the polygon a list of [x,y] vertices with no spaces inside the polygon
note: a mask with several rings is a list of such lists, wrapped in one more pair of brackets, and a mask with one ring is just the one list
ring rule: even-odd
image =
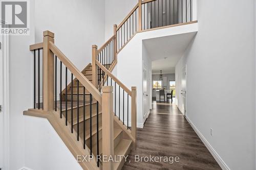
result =
[{"label": "white door on left side of hallway beyond the stairs", "polygon": [[143,120],[146,120],[147,114],[147,67],[143,64]]}]

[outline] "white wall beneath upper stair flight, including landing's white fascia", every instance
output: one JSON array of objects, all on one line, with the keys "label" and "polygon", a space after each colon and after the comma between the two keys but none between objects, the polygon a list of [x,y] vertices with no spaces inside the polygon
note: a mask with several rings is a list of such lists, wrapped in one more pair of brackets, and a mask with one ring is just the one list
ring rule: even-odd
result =
[{"label": "white wall beneath upper stair flight, including landing's white fascia", "polygon": [[[136,34],[131,41],[118,53],[117,78],[128,88],[137,87],[137,127],[142,128],[143,121],[143,63],[142,41],[144,39],[164,37],[177,34],[197,32],[198,23],[191,25],[154,30]],[[144,51],[145,52],[145,51]],[[147,55],[145,55],[147,56]],[[148,61],[149,62],[149,61]],[[151,61],[150,61],[151,62]],[[151,81],[152,82],[152,81]],[[152,85],[151,85],[152,86]],[[152,88],[152,87],[151,87]]]}]

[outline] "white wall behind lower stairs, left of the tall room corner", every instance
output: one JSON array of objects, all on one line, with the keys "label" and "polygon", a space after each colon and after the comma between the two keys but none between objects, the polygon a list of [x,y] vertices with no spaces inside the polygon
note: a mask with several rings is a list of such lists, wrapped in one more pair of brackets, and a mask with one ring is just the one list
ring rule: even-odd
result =
[{"label": "white wall behind lower stairs, left of the tall room corner", "polygon": [[36,0],[35,41],[55,33],[57,47],[82,70],[92,61],[92,45],[104,43],[104,0]]}]

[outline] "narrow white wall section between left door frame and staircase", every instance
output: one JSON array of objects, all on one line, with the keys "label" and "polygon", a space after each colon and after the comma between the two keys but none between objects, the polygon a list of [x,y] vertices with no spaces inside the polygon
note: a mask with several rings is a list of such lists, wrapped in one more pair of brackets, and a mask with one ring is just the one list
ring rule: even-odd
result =
[{"label": "narrow white wall section between left door frame and staircase", "polygon": [[30,35],[9,37],[9,169],[25,162],[25,123],[23,111],[33,107],[34,1],[30,1]]}]

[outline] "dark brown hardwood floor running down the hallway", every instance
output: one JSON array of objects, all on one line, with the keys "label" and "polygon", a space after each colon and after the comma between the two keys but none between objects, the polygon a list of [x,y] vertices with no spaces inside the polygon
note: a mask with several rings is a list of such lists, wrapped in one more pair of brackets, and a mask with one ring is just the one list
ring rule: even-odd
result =
[{"label": "dark brown hardwood floor running down the hallway", "polygon": [[[221,169],[174,103],[153,101],[152,107],[144,128],[137,129],[137,148],[131,151],[123,170]],[[135,162],[135,155],[179,157],[179,162]]]}]

